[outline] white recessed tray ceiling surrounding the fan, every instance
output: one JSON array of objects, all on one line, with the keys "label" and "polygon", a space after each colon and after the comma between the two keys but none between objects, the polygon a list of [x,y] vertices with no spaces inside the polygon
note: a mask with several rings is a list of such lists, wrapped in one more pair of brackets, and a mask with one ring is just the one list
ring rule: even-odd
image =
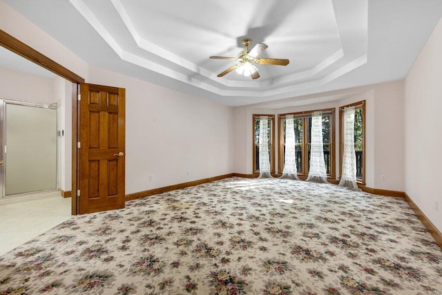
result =
[{"label": "white recessed tray ceiling surrounding the fan", "polygon": [[[5,1],[88,64],[228,106],[403,79],[442,16],[441,0]],[[217,77],[235,61],[209,56],[244,37],[290,64]]]}]

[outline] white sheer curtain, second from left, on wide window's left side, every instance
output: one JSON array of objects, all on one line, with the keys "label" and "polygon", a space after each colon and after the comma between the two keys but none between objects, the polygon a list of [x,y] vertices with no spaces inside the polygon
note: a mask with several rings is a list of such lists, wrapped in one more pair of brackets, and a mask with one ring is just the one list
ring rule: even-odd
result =
[{"label": "white sheer curtain, second from left, on wide window's left side", "polygon": [[299,179],[296,169],[295,129],[293,115],[285,116],[285,153],[284,169],[281,178]]}]

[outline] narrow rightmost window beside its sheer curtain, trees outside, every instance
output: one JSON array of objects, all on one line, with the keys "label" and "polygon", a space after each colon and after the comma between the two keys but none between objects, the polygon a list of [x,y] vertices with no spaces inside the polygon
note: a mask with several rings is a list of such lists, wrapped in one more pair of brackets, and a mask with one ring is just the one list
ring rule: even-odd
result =
[{"label": "narrow rightmost window beside its sheer curtain, trees outside", "polygon": [[354,106],[354,151],[356,153],[356,179],[365,184],[365,100],[354,104],[347,104],[339,108],[339,149],[340,149],[340,171],[343,169],[344,152],[344,108]]}]

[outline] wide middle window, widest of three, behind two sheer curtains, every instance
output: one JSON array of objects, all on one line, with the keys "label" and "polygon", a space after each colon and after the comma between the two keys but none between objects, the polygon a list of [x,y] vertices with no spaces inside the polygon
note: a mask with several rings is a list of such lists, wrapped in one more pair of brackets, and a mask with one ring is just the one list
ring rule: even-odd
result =
[{"label": "wide middle window, widest of three, behind two sheer curtains", "polygon": [[[334,108],[321,111],[323,111],[323,144],[325,170],[327,171],[327,175],[329,177],[334,177]],[[296,168],[298,169],[298,175],[307,176],[309,174],[311,115],[313,114],[313,112],[314,111],[308,111],[302,113],[289,113],[278,115],[279,173],[282,173],[282,169],[284,169],[285,117],[286,115],[293,114],[296,141]]]}]

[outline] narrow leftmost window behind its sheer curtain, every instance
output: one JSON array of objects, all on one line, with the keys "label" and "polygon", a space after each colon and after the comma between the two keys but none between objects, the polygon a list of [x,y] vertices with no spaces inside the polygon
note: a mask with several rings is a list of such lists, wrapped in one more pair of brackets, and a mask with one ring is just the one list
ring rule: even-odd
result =
[{"label": "narrow leftmost window behind its sheer curtain", "polygon": [[[253,173],[260,172],[260,116],[253,114]],[[269,117],[269,124],[267,129],[267,134],[269,136],[269,159],[271,173],[275,172],[275,115],[265,115]]]}]

